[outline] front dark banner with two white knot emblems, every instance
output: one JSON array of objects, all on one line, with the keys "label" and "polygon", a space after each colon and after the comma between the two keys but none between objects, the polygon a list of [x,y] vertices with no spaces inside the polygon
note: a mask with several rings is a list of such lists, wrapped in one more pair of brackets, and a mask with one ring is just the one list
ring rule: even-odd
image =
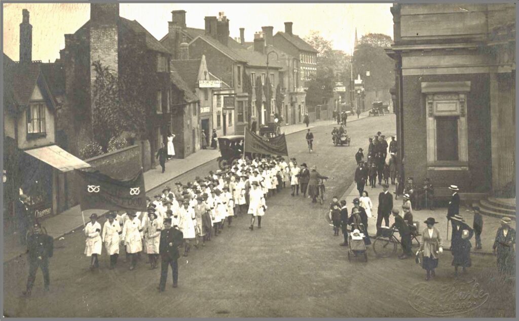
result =
[{"label": "front dark banner with two white knot emblems", "polygon": [[99,171],[78,170],[80,207],[85,210],[146,211],[142,169],[128,179],[115,179]]}]

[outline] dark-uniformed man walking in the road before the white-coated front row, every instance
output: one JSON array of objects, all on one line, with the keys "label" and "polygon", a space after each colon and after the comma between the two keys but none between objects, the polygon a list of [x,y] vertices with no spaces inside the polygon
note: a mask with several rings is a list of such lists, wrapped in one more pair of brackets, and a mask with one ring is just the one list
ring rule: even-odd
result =
[{"label": "dark-uniformed man walking in the road before the white-coated front row", "polygon": [[[176,227],[176,226],[175,226]],[[179,280],[179,247],[184,243],[184,234],[171,227],[171,218],[164,219],[164,229],[160,232],[159,254],[162,258],[160,264],[159,292],[166,288],[168,280],[168,267],[171,266],[173,274],[173,287],[176,288]]]}]

